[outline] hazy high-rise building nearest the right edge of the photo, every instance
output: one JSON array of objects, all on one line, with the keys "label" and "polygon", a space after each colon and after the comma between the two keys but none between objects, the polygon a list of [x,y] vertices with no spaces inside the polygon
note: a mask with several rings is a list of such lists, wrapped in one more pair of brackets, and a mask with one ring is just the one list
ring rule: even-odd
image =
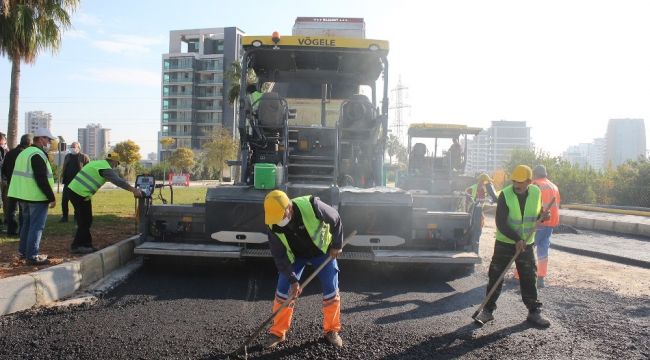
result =
[{"label": "hazy high-rise building nearest the right edge of the photo", "polygon": [[607,141],[606,164],[618,166],[627,160],[636,160],[646,153],[643,119],[610,119],[605,139]]}]

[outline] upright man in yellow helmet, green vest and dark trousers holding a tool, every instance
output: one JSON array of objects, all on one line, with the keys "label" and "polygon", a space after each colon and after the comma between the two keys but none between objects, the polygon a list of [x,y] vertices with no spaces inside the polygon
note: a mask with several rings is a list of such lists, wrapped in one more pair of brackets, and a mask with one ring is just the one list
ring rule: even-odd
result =
[{"label": "upright man in yellow helmet, green vest and dark trousers holding a tool", "polygon": [[[505,187],[497,200],[495,217],[497,233],[494,255],[488,271],[487,292],[506,270],[515,252],[520,251],[515,264],[521,275],[521,298],[528,308],[526,320],[540,327],[548,327],[550,322],[542,317],[542,303],[537,300],[537,268],[533,244],[537,221],[547,220],[550,212],[542,210],[542,193],[537,186],[532,185],[532,176],[533,172],[528,166],[517,166],[512,172],[512,185]],[[494,319],[492,313],[497,307],[496,302],[502,285],[503,283],[499,282],[485,308],[476,317],[479,324]]]}]

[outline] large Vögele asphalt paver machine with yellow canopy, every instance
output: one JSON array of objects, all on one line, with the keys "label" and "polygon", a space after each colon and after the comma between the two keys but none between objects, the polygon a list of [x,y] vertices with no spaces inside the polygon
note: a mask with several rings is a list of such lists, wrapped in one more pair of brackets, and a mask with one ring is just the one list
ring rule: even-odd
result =
[{"label": "large V\u00f6gele asphalt paver machine with yellow canopy", "polygon": [[208,189],[205,204],[150,206],[136,253],[269,257],[262,204],[279,188],[319,196],[338,209],[345,235],[357,230],[343,259],[479,261],[467,213],[432,211],[383,186],[388,42],[274,34],[242,44],[239,178]]}]

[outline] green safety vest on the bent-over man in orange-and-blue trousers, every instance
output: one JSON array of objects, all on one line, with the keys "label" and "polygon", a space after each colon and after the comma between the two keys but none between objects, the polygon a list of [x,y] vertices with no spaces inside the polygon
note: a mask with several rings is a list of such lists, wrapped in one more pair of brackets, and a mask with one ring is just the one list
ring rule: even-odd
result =
[{"label": "green safety vest on the bent-over man in orange-and-blue trousers", "polygon": [[[302,222],[305,224],[305,229],[307,230],[309,237],[311,237],[311,241],[314,242],[314,245],[316,245],[316,247],[319,248],[323,254],[326,254],[327,249],[332,243],[330,226],[329,224],[326,224],[324,221],[321,221],[316,217],[316,213],[314,213],[314,208],[311,206],[309,198],[309,195],[301,196],[293,199],[292,201],[298,206],[298,209],[300,209]],[[271,227],[272,226],[269,226],[269,228]],[[284,248],[287,249],[287,257],[293,264],[293,262],[296,260],[296,257],[293,255],[293,251],[291,251],[291,248],[289,247],[287,237],[282,233],[275,233],[275,235],[280,239],[284,245]]]}]

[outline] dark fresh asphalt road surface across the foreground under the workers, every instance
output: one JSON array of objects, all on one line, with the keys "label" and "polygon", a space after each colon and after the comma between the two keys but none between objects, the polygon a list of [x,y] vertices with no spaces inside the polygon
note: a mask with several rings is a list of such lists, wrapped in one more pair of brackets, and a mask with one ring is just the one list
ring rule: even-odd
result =
[{"label": "dark fresh asphalt road surface across the foreground under the workers", "polygon": [[[470,317],[485,294],[485,265],[450,276],[342,263],[344,348],[322,338],[314,281],[298,301],[288,341],[266,350],[260,338],[249,359],[650,358],[650,297],[606,286],[541,289],[552,322],[542,330],[525,322],[518,285],[508,281],[496,320],[477,327]],[[0,318],[0,358],[225,359],[270,314],[275,282],[270,260],[147,266],[95,305]]]}]

